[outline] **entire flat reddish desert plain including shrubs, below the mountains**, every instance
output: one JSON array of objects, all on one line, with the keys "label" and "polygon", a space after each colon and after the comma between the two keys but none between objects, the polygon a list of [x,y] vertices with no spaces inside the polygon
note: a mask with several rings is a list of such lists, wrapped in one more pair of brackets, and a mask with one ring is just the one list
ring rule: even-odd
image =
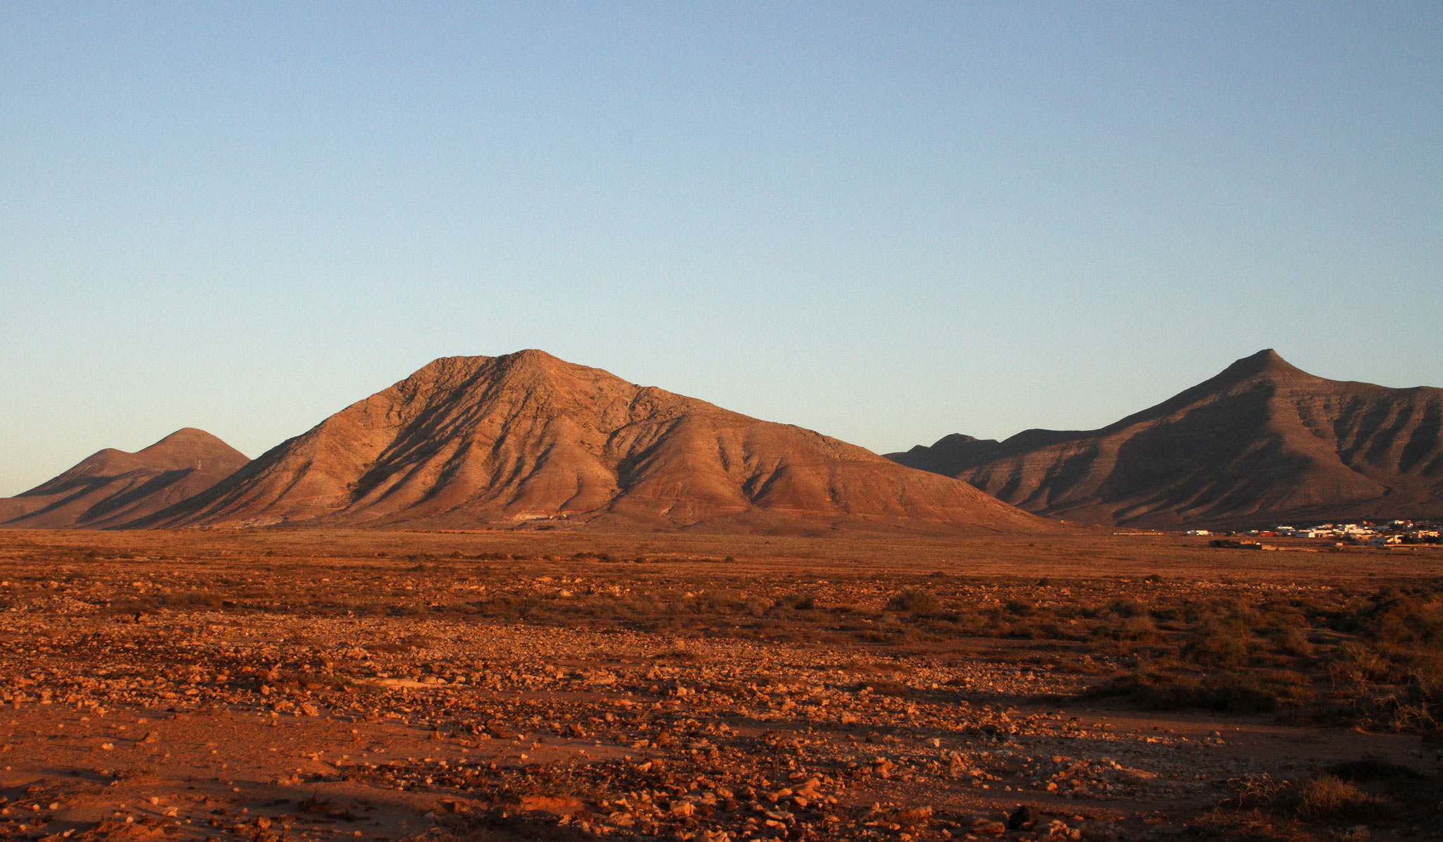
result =
[{"label": "entire flat reddish desert plain including shrubs, below the mountains", "polygon": [[3,531],[0,839],[1443,836],[1443,549],[1286,547]]}]

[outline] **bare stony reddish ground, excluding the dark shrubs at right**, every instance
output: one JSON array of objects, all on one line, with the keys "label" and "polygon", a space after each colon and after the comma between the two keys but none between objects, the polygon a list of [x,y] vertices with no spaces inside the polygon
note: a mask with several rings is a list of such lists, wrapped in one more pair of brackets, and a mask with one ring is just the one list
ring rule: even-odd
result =
[{"label": "bare stony reddish ground, excluding the dark shrubs at right", "polygon": [[[1105,635],[938,631],[1048,605],[1030,581],[38,534],[0,544],[0,839],[1443,833],[1429,728],[1147,711],[1095,693],[1137,667]],[[1059,605],[1338,589],[1045,586]],[[1364,761],[1375,809],[1296,806]]]}]

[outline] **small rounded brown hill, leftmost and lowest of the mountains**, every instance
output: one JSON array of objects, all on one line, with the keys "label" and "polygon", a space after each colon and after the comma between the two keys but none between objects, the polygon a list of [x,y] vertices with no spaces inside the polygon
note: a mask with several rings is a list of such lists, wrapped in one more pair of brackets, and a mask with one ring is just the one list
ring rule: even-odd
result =
[{"label": "small rounded brown hill, leftmost and lowest of the mountains", "polygon": [[118,526],[193,497],[248,461],[211,433],[183,427],[136,453],[107,448],[23,494],[0,497],[0,526]]}]

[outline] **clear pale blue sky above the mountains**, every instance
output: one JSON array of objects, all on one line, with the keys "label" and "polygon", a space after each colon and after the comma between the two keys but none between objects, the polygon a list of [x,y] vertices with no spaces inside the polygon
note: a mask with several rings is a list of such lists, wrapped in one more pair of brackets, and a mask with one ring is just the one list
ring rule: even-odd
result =
[{"label": "clear pale blue sky above the mountains", "polygon": [[544,348],[874,451],[1443,386],[1443,3],[0,3],[0,494]]}]

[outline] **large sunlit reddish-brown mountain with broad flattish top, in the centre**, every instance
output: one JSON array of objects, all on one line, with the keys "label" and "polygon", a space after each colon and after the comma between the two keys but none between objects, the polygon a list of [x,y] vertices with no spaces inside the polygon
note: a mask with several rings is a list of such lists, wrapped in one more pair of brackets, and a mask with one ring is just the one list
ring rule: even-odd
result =
[{"label": "large sunlit reddish-brown mountain with broad flattish top, in the centre", "polygon": [[134,526],[1056,529],[971,485],[541,351],[443,357]]}]

